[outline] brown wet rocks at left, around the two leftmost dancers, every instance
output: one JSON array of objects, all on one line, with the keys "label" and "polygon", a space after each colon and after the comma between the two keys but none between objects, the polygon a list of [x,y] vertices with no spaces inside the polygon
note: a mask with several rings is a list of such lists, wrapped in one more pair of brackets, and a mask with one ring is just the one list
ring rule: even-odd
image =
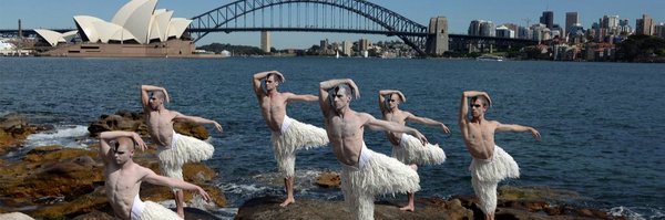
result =
[{"label": "brown wet rocks at left, around the two leftmost dancers", "polygon": [[[25,117],[21,115],[0,118],[0,156],[22,147],[25,137],[40,130],[39,127],[28,125]],[[137,114],[119,112],[102,116],[89,130],[94,137],[112,129],[145,134],[144,128]],[[208,137],[207,130],[201,126],[178,124],[176,130],[202,139]],[[149,145],[149,148],[146,151],[137,151],[134,161],[158,174],[154,154],[156,146]],[[113,212],[106,202],[103,164],[98,151],[99,144],[86,148],[41,146],[16,161],[0,159],[0,213],[22,212],[34,219],[113,219]],[[209,208],[226,206],[223,191],[212,185],[216,175],[204,164],[187,164],[183,167],[185,180],[202,186],[213,198],[206,205],[213,206]],[[146,182],[142,185],[143,200],[164,201],[172,197],[171,189],[166,187]],[[185,200],[191,201],[192,193],[185,192]],[[188,210],[197,212],[195,209]],[[0,216],[0,219],[4,217]]]}]

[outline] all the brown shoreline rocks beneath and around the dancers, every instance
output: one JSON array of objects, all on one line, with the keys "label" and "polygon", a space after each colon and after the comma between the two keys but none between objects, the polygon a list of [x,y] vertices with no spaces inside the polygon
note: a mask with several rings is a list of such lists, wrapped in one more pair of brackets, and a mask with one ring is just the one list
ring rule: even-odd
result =
[{"label": "all the brown shoreline rocks beneath and around the dancers", "polygon": [[[141,114],[126,111],[103,115],[90,125],[89,130],[93,137],[101,132],[116,129],[145,135],[146,127],[141,117]],[[209,136],[202,126],[177,124],[175,127],[178,133],[201,139]],[[30,134],[49,129],[53,129],[53,126],[29,125],[21,115],[0,117],[0,156],[20,149]],[[150,150],[137,153],[135,161],[158,172],[154,157],[156,146],[149,147]],[[98,148],[98,144],[86,148],[41,146],[16,161],[0,159],[0,219],[112,219]],[[204,187],[214,198],[213,202],[206,205],[211,207],[187,208],[187,219],[215,219],[204,210],[226,206],[223,191],[211,184],[217,174],[204,164],[187,164],[183,171],[186,181]],[[335,172],[324,172],[316,182],[324,188],[339,188],[340,179]],[[192,195],[185,195],[190,201]],[[626,219],[565,202],[566,198],[574,197],[579,196],[549,188],[502,187],[499,191],[497,219]],[[144,184],[141,198],[164,201],[171,199],[172,195],[166,187]],[[238,209],[235,219],[350,219],[344,201],[298,199],[296,203],[282,208],[282,199],[259,197],[247,200]],[[479,219],[482,212],[475,203],[473,196],[420,198],[417,199],[416,212],[405,212],[399,210],[403,201],[378,199],[375,218]]]}]

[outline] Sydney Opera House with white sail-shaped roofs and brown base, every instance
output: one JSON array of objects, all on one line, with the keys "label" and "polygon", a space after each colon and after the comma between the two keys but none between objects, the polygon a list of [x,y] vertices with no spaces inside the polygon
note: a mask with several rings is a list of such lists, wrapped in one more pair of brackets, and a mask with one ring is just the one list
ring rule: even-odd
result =
[{"label": "Sydney Opera House with white sail-shaped roofs and brown base", "polygon": [[34,30],[43,56],[190,56],[194,42],[184,34],[192,20],[155,9],[157,0],[131,0],[110,22],[75,15],[74,31]]}]

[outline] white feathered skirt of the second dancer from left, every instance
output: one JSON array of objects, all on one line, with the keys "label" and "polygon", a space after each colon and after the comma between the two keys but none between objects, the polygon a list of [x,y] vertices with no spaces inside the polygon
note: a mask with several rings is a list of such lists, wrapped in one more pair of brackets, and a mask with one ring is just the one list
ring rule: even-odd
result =
[{"label": "white feathered skirt of the second dancer from left", "polygon": [[213,145],[173,132],[170,147],[161,147],[157,150],[160,170],[166,177],[183,180],[183,165],[185,163],[197,163],[213,157],[215,148]]}]

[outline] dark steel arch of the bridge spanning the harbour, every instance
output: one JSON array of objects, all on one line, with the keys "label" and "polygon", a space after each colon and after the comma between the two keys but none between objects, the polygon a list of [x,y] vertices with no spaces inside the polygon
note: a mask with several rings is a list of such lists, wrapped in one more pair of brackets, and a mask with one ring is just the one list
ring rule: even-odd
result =
[{"label": "dark steel arch of the bridge spanning the harbour", "polygon": [[[291,25],[290,17],[288,19],[288,25],[284,25],[283,20],[283,8],[287,6],[289,12],[295,6],[296,12],[300,6],[308,10],[309,7],[316,8],[313,10],[315,17],[317,14],[318,7],[321,7],[324,13],[317,20],[315,24],[300,25],[300,21],[297,21],[297,25]],[[339,20],[341,23],[330,25],[326,21],[326,10],[330,8],[330,13],[335,15],[335,12],[339,13]],[[279,25],[274,25],[274,20],[270,21],[270,27],[256,27],[256,14],[260,13],[260,22],[264,22],[265,10],[269,10],[270,17],[274,15],[275,8],[279,10]],[[337,11],[334,11],[337,9]],[[339,11],[341,10],[341,11]],[[344,25],[344,19],[341,14],[347,12],[347,21],[352,22],[356,19],[358,27],[356,28],[338,28],[337,25]],[[307,11],[306,13],[308,13]],[[247,25],[247,17],[252,17],[253,27]],[[299,17],[298,17],[299,18]],[[244,24],[237,24],[237,21],[243,19]],[[318,19],[323,19],[319,27]],[[366,20],[366,21],[361,21]],[[428,28],[421,25],[408,18],[405,18],[391,10],[388,10],[378,4],[367,2],[364,0],[238,0],[219,8],[213,9],[201,15],[192,18],[193,22],[190,24],[187,31],[194,36],[194,41],[198,41],[203,36],[211,32],[234,32],[234,31],[298,31],[298,32],[341,32],[341,33],[368,33],[368,34],[385,34],[389,36],[398,36],[406,44],[416,50],[420,55],[426,55],[426,43],[429,35]],[[332,18],[331,20],[335,20]],[[235,23],[232,23],[235,21]],[[306,21],[307,22],[307,21]],[[361,28],[360,23],[364,22],[365,27]]]}]

